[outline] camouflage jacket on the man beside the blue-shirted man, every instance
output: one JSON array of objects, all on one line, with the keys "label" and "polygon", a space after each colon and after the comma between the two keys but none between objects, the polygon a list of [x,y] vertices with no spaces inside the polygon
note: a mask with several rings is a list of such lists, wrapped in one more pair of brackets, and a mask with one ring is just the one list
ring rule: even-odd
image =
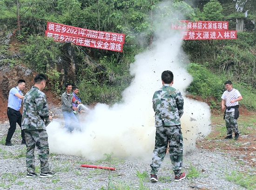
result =
[{"label": "camouflage jacket on the man beside the blue-shirted man", "polygon": [[21,129],[46,130],[46,123],[49,122],[49,109],[44,92],[33,86],[23,99],[23,114]]}]

